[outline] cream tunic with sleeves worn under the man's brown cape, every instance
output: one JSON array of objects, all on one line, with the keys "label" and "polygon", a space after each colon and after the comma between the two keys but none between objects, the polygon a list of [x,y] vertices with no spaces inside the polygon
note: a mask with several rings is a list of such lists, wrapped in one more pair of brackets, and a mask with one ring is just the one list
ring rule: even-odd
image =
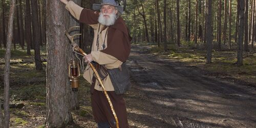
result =
[{"label": "cream tunic with sleeves worn under the man's brown cape", "polygon": [[[66,5],[66,9],[69,10],[70,13],[76,19],[79,20],[80,14],[81,14],[81,11],[83,8],[76,5],[74,2],[69,1],[68,4]],[[107,43],[108,33],[106,33],[107,29],[102,30],[102,28],[104,26],[100,25],[100,28],[99,28],[99,24],[89,25],[89,26],[91,26],[94,29],[94,39],[93,39],[92,52],[91,52],[93,60],[98,62],[100,65],[104,65],[107,69],[119,68],[122,65],[122,62],[120,60],[118,60],[114,56],[100,52],[100,50],[103,50],[103,48],[101,46],[103,45],[104,38],[105,38],[105,48],[108,47],[108,43]],[[97,46],[96,46],[97,36],[98,36],[98,28],[100,30],[99,31],[99,51],[97,51]],[[106,35],[106,37],[105,37],[105,35]],[[93,70],[90,68],[90,65],[87,65],[86,71],[84,71],[84,73],[83,73],[83,77],[88,82],[90,82],[92,84]],[[111,82],[111,79],[109,76],[107,76],[106,79],[103,80],[102,82],[103,82],[103,86],[106,91],[114,91],[114,87],[112,85],[112,82]],[[98,91],[102,91],[102,88],[99,85],[98,80],[96,80],[94,89],[96,89]]]}]

